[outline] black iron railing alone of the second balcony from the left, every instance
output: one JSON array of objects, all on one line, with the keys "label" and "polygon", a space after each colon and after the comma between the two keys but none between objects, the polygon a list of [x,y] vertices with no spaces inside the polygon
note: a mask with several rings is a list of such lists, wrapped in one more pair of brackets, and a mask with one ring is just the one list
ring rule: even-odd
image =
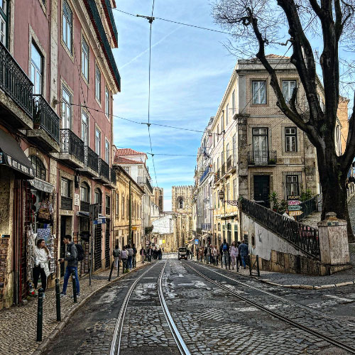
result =
[{"label": "black iron railing alone of the second balcony from the left", "polygon": [[40,94],[33,95],[33,122],[36,128],[46,131],[58,143],[59,121],[58,114],[50,107],[45,98]]}]

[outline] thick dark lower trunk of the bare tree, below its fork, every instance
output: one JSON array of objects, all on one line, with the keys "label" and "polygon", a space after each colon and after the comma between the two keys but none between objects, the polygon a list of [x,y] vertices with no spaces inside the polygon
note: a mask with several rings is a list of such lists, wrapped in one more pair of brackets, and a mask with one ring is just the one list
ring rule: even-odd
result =
[{"label": "thick dark lower trunk of the bare tree, below its fork", "polygon": [[322,148],[318,148],[317,160],[322,186],[322,220],[328,212],[335,212],[338,219],[346,220],[348,240],[354,241],[347,203],[347,171],[340,169],[335,152],[324,152]]}]

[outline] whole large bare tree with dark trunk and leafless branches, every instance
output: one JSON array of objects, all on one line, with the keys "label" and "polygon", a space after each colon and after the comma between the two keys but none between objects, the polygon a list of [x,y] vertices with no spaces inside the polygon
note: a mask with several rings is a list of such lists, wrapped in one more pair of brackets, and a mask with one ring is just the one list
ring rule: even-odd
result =
[{"label": "whole large bare tree with dark trunk and leafless branches", "polygon": [[[344,40],[349,45],[351,35],[354,36],[354,0],[217,0],[212,13],[217,23],[233,33],[234,50],[244,58],[256,56],[266,68],[280,111],[307,134],[316,148],[323,195],[322,219],[327,212],[336,212],[338,218],[348,222],[349,241],[354,239],[345,187],[355,156],[354,108],[343,155],[337,155],[334,138],[339,104],[339,44]],[[311,45],[315,39],[322,40],[324,109],[317,97],[317,62]],[[285,102],[275,67],[266,58],[266,47],[278,45],[292,48],[290,62],[305,89],[307,118],[297,107],[297,88],[290,103]],[[354,61],[349,63],[354,66]]]}]

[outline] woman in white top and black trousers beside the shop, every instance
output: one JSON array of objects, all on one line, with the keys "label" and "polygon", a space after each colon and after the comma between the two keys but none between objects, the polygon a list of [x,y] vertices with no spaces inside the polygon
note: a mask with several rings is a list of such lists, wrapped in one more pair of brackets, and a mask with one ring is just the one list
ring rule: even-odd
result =
[{"label": "woman in white top and black trousers beside the shop", "polygon": [[40,277],[40,282],[43,288],[43,298],[45,297],[45,288],[47,286],[47,278],[50,275],[50,271],[48,268],[48,261],[50,261],[50,252],[45,246],[44,239],[38,239],[35,243],[35,247],[33,249],[34,253],[34,265],[33,265],[33,284],[35,286],[35,292],[37,294],[37,285],[38,278]]}]

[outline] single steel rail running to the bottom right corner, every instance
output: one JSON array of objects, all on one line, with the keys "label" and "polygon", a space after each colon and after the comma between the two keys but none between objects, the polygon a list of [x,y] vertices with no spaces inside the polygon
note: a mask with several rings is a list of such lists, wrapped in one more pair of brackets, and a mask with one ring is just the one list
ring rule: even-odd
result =
[{"label": "single steel rail running to the bottom right corner", "polygon": [[300,324],[298,322],[290,320],[289,318],[284,317],[283,315],[279,315],[278,313],[273,312],[272,310],[269,310],[268,308],[266,308],[266,307],[264,307],[262,305],[259,305],[257,302],[249,300],[248,298],[239,295],[238,293],[234,292],[233,290],[229,290],[229,288],[227,288],[226,286],[221,285],[217,281],[212,280],[212,278],[209,278],[208,276],[204,275],[203,273],[201,273],[200,271],[196,270],[195,268],[193,268],[189,264],[187,264],[187,266],[189,266],[189,268],[191,268],[193,271],[195,271],[195,273],[200,275],[202,278],[204,278],[205,280],[209,281],[209,283],[213,283],[214,285],[217,285],[219,288],[222,288],[222,290],[225,290],[227,293],[230,293],[231,295],[234,295],[235,297],[239,298],[239,300],[247,302],[247,303],[249,303],[249,305],[253,305],[254,307],[258,308],[259,310],[267,312],[269,315],[272,315],[273,317],[278,318],[279,320],[282,320],[283,322],[291,324],[294,327],[302,329],[302,330],[304,330],[307,333],[310,333],[312,335],[315,335],[316,337],[324,339],[326,342],[328,342],[330,344],[333,344],[335,346],[338,346],[339,348],[342,348],[342,349],[344,349],[346,351],[349,351],[351,354],[355,354],[355,348],[353,346],[349,346],[349,345],[344,344],[342,342],[338,342],[336,339],[333,339],[331,337],[328,337],[327,335],[324,335],[324,334],[322,334],[320,332],[317,332],[317,330],[311,329],[309,327],[306,327],[303,324]]}]

